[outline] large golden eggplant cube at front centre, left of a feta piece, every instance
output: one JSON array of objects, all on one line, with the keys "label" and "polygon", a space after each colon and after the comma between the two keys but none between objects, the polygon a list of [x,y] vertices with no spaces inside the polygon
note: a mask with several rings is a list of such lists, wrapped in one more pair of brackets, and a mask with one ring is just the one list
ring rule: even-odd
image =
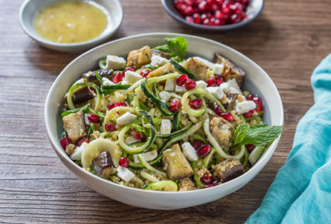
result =
[{"label": "large golden eggplant cube at front centre, left of a feta piece", "polygon": [[163,152],[162,164],[172,181],[184,179],[194,174],[190,163],[181,152],[181,147],[178,144]]}]

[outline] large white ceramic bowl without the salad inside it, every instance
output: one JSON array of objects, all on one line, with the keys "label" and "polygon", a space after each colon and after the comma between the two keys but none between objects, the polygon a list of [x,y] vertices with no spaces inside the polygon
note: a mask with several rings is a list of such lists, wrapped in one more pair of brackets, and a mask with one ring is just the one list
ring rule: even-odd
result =
[{"label": "large white ceramic bowl without the salad inside it", "polygon": [[[126,57],[131,50],[139,49],[144,45],[149,45],[150,47],[163,45],[165,43],[163,40],[164,37],[177,36],[183,36],[188,42],[188,56],[194,54],[211,60],[214,52],[218,52],[234,61],[234,63],[237,63],[246,72],[244,89],[249,90],[253,94],[259,94],[263,99],[265,111],[265,115],[263,116],[264,123],[268,123],[269,125],[283,125],[283,104],[281,103],[281,97],[268,74],[259,65],[248,59],[248,57],[221,43],[185,34],[152,33],[112,41],[82,54],[59,74],[52,88],[50,88],[45,105],[47,134],[59,159],[83,183],[86,183],[93,190],[104,196],[128,205],[157,210],[173,210],[215,201],[238,190],[252,180],[262,170],[265,164],[268,163],[279,142],[279,138],[276,139],[252,169],[237,179],[223,183],[217,187],[190,192],[153,192],[123,187],[98,178],[84,171],[71,161],[61,147],[59,140],[63,133],[63,123],[60,115],[61,108],[63,108],[63,96],[72,83],[80,79],[81,74],[84,72],[96,68],[99,59],[105,57],[107,54]],[[61,104],[59,107],[58,103]]]}]

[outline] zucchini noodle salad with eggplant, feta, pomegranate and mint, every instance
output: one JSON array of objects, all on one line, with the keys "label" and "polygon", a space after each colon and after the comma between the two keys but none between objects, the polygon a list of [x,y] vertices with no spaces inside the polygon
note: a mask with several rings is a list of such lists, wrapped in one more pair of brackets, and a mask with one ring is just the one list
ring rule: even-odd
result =
[{"label": "zucchini noodle salad with eggplant, feta, pomegranate and mint", "polygon": [[99,178],[143,190],[188,191],[241,176],[283,126],[263,123],[245,72],[214,54],[186,57],[183,37],[107,55],[64,96],[61,145]]}]

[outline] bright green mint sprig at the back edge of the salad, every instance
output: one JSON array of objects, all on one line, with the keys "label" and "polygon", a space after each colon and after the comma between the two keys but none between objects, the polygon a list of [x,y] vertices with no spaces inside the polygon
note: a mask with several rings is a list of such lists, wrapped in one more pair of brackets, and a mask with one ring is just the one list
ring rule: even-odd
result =
[{"label": "bright green mint sprig at the back edge of the salad", "polygon": [[177,56],[181,59],[185,57],[188,50],[188,43],[183,37],[165,38],[165,41],[167,41],[167,44],[157,46],[154,49],[169,53],[170,57]]}]

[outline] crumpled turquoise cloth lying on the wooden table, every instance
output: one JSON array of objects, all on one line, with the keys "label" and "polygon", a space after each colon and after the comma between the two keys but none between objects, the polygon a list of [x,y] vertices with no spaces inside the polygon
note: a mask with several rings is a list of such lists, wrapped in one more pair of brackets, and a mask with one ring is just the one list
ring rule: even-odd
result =
[{"label": "crumpled turquoise cloth lying on the wooden table", "polygon": [[311,82],[315,104],[299,121],[285,165],[246,223],[331,223],[331,54]]}]

